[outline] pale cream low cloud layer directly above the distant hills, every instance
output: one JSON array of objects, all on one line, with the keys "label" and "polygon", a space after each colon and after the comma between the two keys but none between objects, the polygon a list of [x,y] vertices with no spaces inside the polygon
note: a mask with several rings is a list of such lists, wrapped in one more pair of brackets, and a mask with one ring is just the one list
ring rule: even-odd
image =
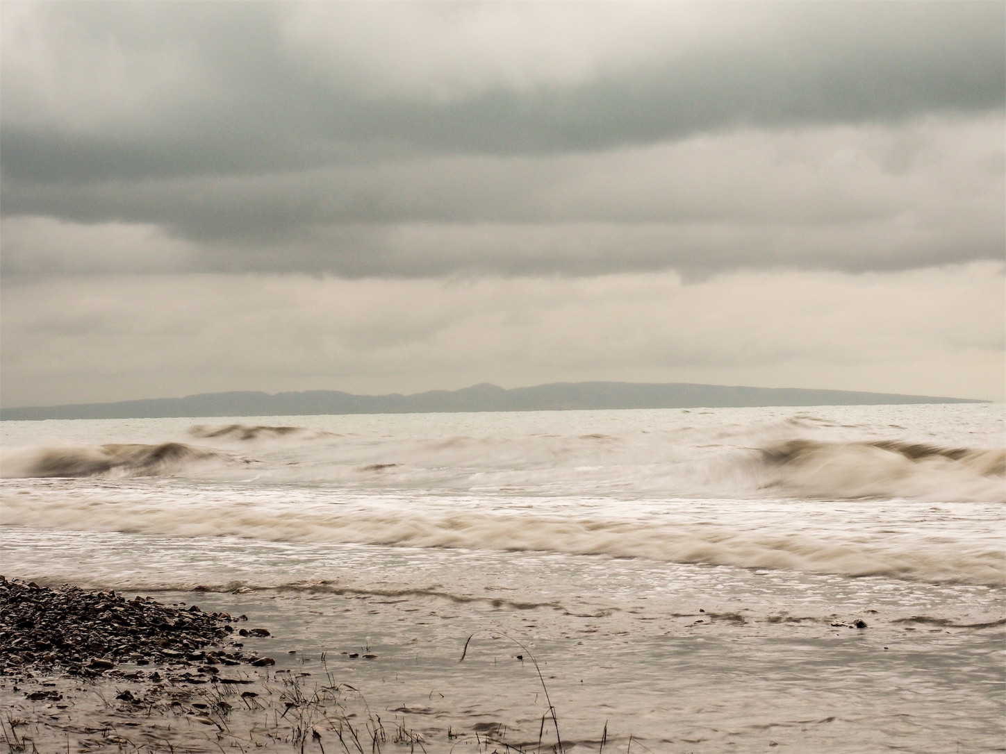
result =
[{"label": "pale cream low cloud layer directly above the distant hills", "polygon": [[992,262],[691,285],[674,272],[105,275],[86,290],[73,278],[25,282],[5,300],[7,405],[28,394],[46,403],[579,379],[997,396],[1006,327],[1002,264]]}]

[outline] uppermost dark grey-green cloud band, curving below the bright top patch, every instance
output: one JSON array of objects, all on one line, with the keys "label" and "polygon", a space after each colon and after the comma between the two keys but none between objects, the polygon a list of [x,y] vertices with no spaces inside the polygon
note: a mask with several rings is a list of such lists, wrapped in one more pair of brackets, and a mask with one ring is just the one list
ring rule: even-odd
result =
[{"label": "uppermost dark grey-green cloud band, curving below the bright top patch", "polygon": [[[449,99],[377,96],[338,71],[318,71],[285,44],[276,6],[146,5],[48,10],[70,14],[80,34],[101,29],[128,45],[126,54],[145,50],[152,65],[159,58],[150,50],[162,50],[164,65],[187,66],[192,79],[181,89],[152,86],[143,107],[112,108],[103,129],[78,129],[72,114],[5,119],[6,180],[299,169],[343,159],[346,144],[369,145],[371,155],[605,150],[736,127],[995,109],[1006,88],[998,3],[787,4],[776,6],[770,33],[727,48],[569,85],[491,83]],[[182,62],[168,54],[175,48],[185,51]],[[4,81],[15,92],[8,99],[16,100],[17,83]],[[7,110],[23,106],[8,102]]]}]

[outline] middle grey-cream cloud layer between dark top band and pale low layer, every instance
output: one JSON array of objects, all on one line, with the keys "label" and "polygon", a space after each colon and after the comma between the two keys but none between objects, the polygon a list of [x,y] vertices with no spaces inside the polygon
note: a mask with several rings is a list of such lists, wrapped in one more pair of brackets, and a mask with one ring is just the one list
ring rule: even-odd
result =
[{"label": "middle grey-cream cloud layer between dark top band and pale low layer", "polygon": [[[5,186],[6,273],[598,274],[1001,258],[1001,119],[743,132],[552,158]],[[32,252],[30,212],[70,223]],[[100,229],[160,228],[131,250]],[[124,232],[124,231],[123,231]],[[62,249],[59,242],[62,239]],[[169,242],[170,241],[170,242]],[[38,242],[36,242],[36,246]],[[44,252],[43,252],[44,251]],[[63,261],[60,262],[60,256]]]}]

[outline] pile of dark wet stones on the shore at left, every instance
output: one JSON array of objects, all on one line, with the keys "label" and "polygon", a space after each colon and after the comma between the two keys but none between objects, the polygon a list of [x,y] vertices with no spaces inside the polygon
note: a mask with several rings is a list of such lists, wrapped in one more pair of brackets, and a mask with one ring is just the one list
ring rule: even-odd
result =
[{"label": "pile of dark wet stones on the shore at left", "polygon": [[[215,676],[217,666],[273,665],[245,654],[238,642],[219,646],[235,628],[226,613],[196,606],[170,607],[149,597],[126,599],[114,591],[74,586],[49,589],[0,576],[0,676],[30,671],[96,677],[119,664],[198,666]],[[241,628],[242,636],[268,636],[265,628]]]}]

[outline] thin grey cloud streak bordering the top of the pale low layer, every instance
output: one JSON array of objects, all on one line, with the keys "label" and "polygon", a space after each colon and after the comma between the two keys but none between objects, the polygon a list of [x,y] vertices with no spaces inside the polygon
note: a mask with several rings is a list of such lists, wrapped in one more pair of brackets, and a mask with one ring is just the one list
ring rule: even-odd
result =
[{"label": "thin grey cloud streak bordering the top of the pale low layer", "polygon": [[[735,223],[337,224],[267,245],[197,247],[170,238],[133,249],[85,244],[69,226],[61,249],[7,245],[6,275],[117,271],[290,272],[342,277],[452,275],[598,275],[677,269],[701,278],[737,268],[897,270],[1002,256],[1001,235],[963,223],[938,230],[883,224]],[[99,232],[98,242],[104,235]],[[135,237],[130,234],[128,237]],[[156,241],[156,242],[155,242]],[[37,242],[36,242],[37,243]],[[949,247],[953,248],[949,251]],[[150,249],[157,253],[151,253]],[[10,277],[8,279],[11,279]]]}]

